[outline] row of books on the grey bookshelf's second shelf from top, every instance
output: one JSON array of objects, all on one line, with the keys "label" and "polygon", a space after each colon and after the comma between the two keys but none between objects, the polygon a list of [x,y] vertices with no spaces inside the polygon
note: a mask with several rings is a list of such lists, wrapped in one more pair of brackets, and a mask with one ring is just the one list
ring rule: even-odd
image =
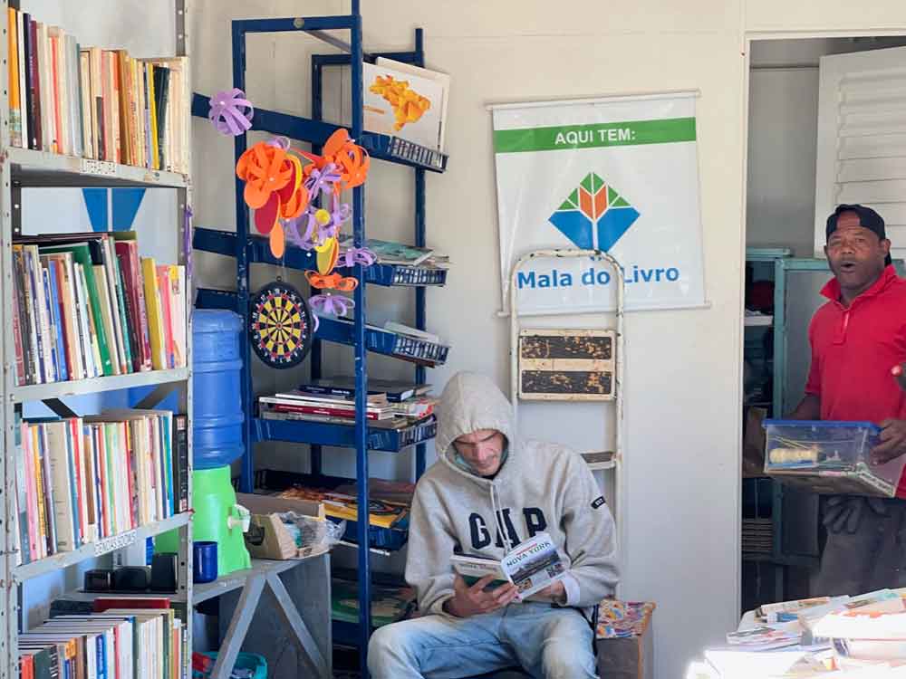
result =
[{"label": "row of books on the grey bookshelf's second shelf from top", "polygon": [[185,267],[134,232],[24,237],[13,267],[17,385],[186,367]]}]

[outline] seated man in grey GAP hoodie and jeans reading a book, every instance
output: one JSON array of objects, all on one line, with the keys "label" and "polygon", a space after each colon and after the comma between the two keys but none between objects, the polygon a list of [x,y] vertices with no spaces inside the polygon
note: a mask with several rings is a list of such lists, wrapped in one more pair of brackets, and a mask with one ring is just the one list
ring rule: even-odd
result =
[{"label": "seated man in grey GAP hoodie and jeans reading a book", "polygon": [[[438,406],[439,459],[419,480],[406,579],[422,617],[371,636],[375,679],[471,677],[521,666],[547,679],[593,678],[589,616],[619,574],[611,512],[582,457],[521,439],[490,379],[458,373]],[[526,601],[512,584],[485,590],[454,573],[463,553],[501,559],[538,532],[554,540],[565,578]]]}]

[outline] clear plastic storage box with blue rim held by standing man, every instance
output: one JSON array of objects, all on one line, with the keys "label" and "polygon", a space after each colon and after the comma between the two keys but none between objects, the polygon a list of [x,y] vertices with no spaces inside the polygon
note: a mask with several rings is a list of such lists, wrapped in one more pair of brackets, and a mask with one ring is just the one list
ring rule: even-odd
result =
[{"label": "clear plastic storage box with blue rim held by standing man", "polygon": [[893,497],[906,455],[872,464],[881,429],[870,422],[765,420],[765,473],[814,493]]}]

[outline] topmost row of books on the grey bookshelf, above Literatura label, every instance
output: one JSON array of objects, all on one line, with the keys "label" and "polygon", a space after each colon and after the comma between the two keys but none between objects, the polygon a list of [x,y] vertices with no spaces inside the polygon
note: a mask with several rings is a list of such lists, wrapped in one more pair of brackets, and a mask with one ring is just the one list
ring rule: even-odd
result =
[{"label": "topmost row of books on the grey bookshelf, above Literatura label", "polygon": [[188,173],[185,57],[82,47],[12,7],[8,21],[13,146]]}]

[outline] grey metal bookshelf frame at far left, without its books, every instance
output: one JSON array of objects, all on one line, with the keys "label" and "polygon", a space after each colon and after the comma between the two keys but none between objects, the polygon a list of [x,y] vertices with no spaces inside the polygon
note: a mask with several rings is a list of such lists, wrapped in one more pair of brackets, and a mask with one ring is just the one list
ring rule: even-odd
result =
[{"label": "grey metal bookshelf frame at far left, without its books", "polygon": [[[85,11],[91,12],[91,2]],[[192,597],[192,535],[189,512],[175,513],[162,521],[151,521],[140,524],[129,531],[120,531],[111,537],[101,538],[82,544],[74,550],[57,552],[51,556],[34,559],[28,563],[16,565],[16,545],[18,536],[14,532],[14,503],[16,502],[16,419],[21,415],[22,407],[27,403],[41,402],[60,416],[71,415],[72,411],[63,399],[82,395],[99,394],[144,387],[150,393],[135,400],[137,392],[129,392],[130,406],[153,407],[172,392],[178,396],[178,411],[188,415],[188,502],[191,506],[191,412],[192,412],[192,374],[190,368],[171,368],[131,372],[101,378],[59,381],[43,384],[17,385],[16,348],[14,333],[14,264],[12,244],[15,236],[21,235],[22,213],[28,211],[28,201],[24,201],[22,188],[41,187],[124,187],[169,188],[175,190],[177,210],[173,215],[162,215],[160,228],[168,229],[177,245],[178,264],[186,264],[186,254],[181,246],[188,234],[185,233],[184,212],[191,201],[191,182],[188,174],[165,170],[134,167],[120,163],[91,158],[55,154],[34,148],[18,148],[12,145],[10,93],[11,83],[9,69],[11,54],[7,35],[10,26],[7,21],[7,9],[19,9],[18,0],[0,0],[0,25],[4,29],[4,39],[0,43],[3,54],[3,65],[0,68],[0,289],[3,301],[0,302],[0,324],[5,332],[0,339],[0,350],[3,352],[3,405],[0,406],[0,425],[3,426],[3,445],[5,450],[3,464],[0,464],[0,530],[3,531],[2,555],[0,570],[3,582],[3,601],[0,607],[0,679],[17,679],[18,670],[18,636],[24,631],[24,611],[22,601],[24,588],[30,581],[69,569],[89,559],[117,559],[133,565],[144,565],[130,560],[130,553],[136,554],[148,538],[165,531],[178,530],[178,592],[174,600],[190,601]],[[173,30],[176,36],[177,57],[188,56],[188,16],[185,0],[173,1]],[[36,17],[40,20],[40,17]],[[190,91],[188,83],[188,63],[183,82],[185,91]],[[189,120],[188,97],[184,100],[186,120]],[[186,167],[191,167],[190,140],[185,149]],[[168,218],[169,217],[169,218]],[[66,219],[66,215],[61,215]],[[166,233],[166,232],[165,232]],[[187,280],[186,305],[186,365],[191,362],[191,282]],[[73,491],[74,493],[74,491]],[[130,548],[136,548],[130,550]],[[141,550],[142,553],[144,550]],[[49,596],[53,597],[53,594]],[[50,603],[48,601],[47,603]],[[191,620],[184,627],[186,647],[192,647]],[[190,654],[189,654],[190,655]],[[191,674],[190,657],[184,656],[182,674]]]}]

